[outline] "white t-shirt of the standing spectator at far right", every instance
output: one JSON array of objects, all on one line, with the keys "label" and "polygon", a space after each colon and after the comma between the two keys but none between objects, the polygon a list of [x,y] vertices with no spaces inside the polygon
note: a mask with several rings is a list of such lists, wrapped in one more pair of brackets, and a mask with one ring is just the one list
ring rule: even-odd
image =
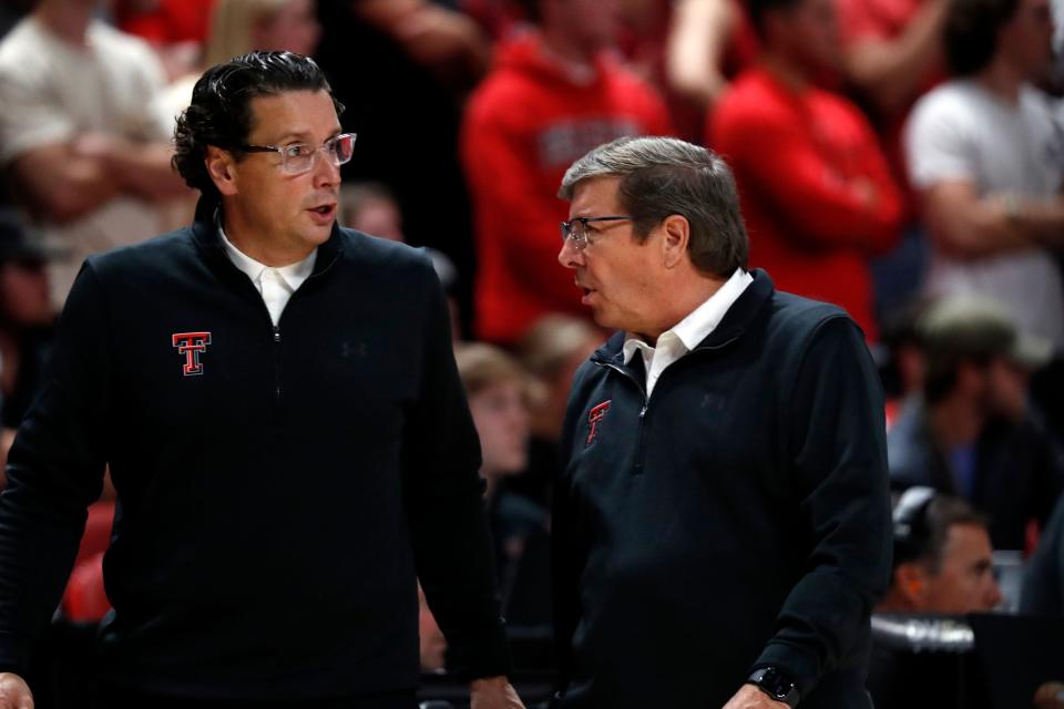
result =
[{"label": "white t-shirt of the standing spectator at far right", "polygon": [[[963,179],[981,197],[1057,199],[1064,185],[1064,102],[1023,86],[1019,102],[1011,103],[974,80],[950,81],[917,103],[906,153],[918,188]],[[1064,351],[1064,284],[1048,249],[976,259],[935,253],[927,291],[994,298],[1021,330]]]}]

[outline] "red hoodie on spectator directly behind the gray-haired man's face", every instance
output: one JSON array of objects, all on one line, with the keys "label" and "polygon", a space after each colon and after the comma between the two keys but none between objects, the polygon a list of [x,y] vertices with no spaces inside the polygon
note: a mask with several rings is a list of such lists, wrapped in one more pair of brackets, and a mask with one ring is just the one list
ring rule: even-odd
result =
[{"label": "red hoodie on spectator directly behind the gray-haired man's face", "polygon": [[608,56],[586,82],[542,49],[538,34],[503,43],[470,99],[461,157],[477,226],[477,333],[518,340],[540,317],[586,317],[571,271],[557,263],[557,188],[565,169],[623,135],[669,134],[654,90]]}]

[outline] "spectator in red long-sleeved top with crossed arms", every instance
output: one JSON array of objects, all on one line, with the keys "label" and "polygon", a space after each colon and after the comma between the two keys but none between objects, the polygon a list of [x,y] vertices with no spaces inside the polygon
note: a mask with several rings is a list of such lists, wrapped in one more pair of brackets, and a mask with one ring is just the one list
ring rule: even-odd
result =
[{"label": "spectator in red long-sleeved top with crossed arms", "polygon": [[832,0],[751,0],[759,65],[710,122],[750,233],[750,264],[780,290],[845,308],[878,339],[872,256],[894,245],[901,195],[858,107],[816,85],[840,62]]}]

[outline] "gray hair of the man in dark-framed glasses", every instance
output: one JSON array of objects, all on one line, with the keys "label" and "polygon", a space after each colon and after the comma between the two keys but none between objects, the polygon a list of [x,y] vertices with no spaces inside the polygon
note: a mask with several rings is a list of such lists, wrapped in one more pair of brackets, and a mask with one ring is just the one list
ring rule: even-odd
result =
[{"label": "gray hair of the man in dark-framed glasses", "polygon": [[719,278],[747,268],[749,238],[735,177],[712,151],[672,137],[621,137],[570,165],[557,196],[571,201],[579,183],[607,176],[621,177],[617,194],[637,239],[681,215],[690,225],[695,268]]}]

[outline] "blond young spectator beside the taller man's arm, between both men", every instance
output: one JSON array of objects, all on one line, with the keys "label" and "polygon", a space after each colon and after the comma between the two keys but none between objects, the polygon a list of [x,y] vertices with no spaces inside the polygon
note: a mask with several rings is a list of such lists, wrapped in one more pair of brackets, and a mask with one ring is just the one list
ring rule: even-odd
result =
[{"label": "blond young spectator beside the taller man's arm, between both men", "polygon": [[523,471],[529,451],[529,378],[502,350],[484,343],[459,346],[454,352],[469,410],[480,435],[487,482],[489,521],[495,543],[503,605],[524,551],[525,540],[546,531],[548,513],[535,502],[500,491],[500,481]]}]

